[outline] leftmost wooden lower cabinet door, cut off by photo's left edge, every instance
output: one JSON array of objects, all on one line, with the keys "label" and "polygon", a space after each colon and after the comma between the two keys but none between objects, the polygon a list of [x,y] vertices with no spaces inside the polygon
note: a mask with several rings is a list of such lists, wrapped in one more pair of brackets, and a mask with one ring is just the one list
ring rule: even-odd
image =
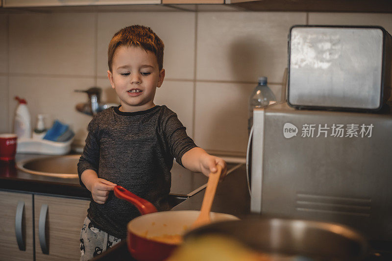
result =
[{"label": "leftmost wooden lower cabinet door, cut off by photo's left edge", "polygon": [[0,260],[33,260],[33,195],[0,191],[0,210]]}]

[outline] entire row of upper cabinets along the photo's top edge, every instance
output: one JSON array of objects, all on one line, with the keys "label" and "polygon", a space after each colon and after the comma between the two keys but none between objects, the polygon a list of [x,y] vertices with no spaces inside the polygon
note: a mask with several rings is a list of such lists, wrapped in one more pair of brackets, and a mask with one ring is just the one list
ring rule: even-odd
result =
[{"label": "entire row of upper cabinets along the photo's top edge", "polygon": [[172,11],[173,8],[197,11],[197,8],[192,8],[193,5],[211,5],[229,6],[239,11],[392,13],[392,0],[0,0],[0,6],[1,1],[2,7],[100,6],[96,11],[104,11],[104,8],[110,11],[115,6],[123,8],[132,5],[144,6],[146,11],[150,10],[147,6],[157,6],[163,8],[163,11]]}]

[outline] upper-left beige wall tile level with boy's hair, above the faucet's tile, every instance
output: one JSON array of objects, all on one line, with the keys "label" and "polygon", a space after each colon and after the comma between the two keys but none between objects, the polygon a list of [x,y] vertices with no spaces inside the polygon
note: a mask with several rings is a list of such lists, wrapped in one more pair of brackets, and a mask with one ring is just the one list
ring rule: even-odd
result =
[{"label": "upper-left beige wall tile level with boy's hair, above the faucet's tile", "polygon": [[95,75],[95,15],[10,15],[10,72]]}]

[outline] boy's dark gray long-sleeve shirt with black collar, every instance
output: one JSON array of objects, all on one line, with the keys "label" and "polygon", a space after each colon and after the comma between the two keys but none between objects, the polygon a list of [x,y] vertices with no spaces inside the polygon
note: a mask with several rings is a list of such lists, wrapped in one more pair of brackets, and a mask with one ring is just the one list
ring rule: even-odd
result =
[{"label": "boy's dark gray long-sleeve shirt with black collar", "polygon": [[[119,106],[120,107],[120,106]],[[98,177],[150,201],[158,211],[169,210],[173,158],[196,147],[177,115],[166,106],[147,111],[121,112],[111,107],[89,123],[84,151],[77,165],[81,173],[93,169]],[[91,198],[87,216],[109,235],[125,238],[126,224],[140,213],[113,191],[104,204]]]}]

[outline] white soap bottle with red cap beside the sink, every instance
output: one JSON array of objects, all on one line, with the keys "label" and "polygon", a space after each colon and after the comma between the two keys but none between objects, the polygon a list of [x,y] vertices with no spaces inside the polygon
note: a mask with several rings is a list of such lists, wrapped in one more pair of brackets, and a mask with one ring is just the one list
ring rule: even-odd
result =
[{"label": "white soap bottle with red cap beside the sink", "polygon": [[31,138],[31,118],[30,113],[27,108],[27,102],[25,99],[21,99],[18,96],[15,96],[15,99],[19,101],[18,108],[16,108],[15,112],[15,120],[14,120],[14,133],[18,136],[18,139],[21,138]]}]

